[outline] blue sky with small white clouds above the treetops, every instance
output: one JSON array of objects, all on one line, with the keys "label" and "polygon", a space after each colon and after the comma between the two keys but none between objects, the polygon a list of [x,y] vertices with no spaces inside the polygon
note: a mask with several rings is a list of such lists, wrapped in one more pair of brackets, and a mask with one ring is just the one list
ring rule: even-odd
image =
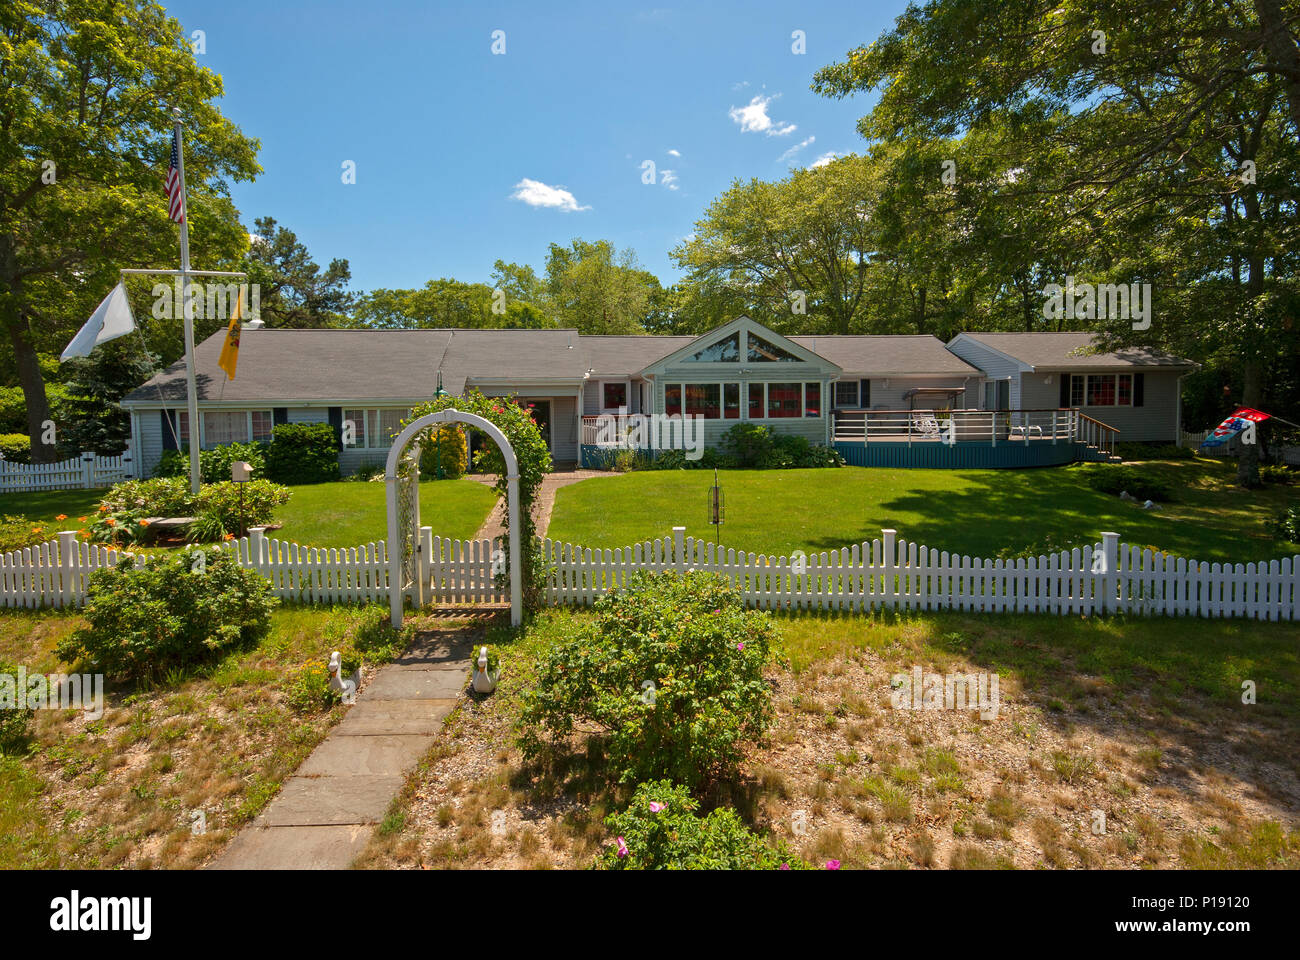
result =
[{"label": "blue sky with small white clouds above the treetops", "polygon": [[261,139],[265,173],[234,187],[244,222],[273,216],[317,263],[347,258],[358,290],[485,282],[497,258],[541,272],[547,243],[573,237],[630,246],[672,282],[668,251],[734,178],[862,148],[855,122],[871,100],[809,83],[904,8],[165,5],[204,31],[199,60],[225,81],[222,112]]}]

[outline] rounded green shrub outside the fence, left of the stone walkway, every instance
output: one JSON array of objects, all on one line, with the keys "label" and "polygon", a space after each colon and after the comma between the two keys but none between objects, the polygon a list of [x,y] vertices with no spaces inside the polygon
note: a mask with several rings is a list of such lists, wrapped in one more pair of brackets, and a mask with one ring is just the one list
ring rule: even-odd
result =
[{"label": "rounded green shrub outside the fence, left of the stone walkway", "polygon": [[90,627],[60,640],[57,654],[113,679],[156,679],[264,636],[274,605],[270,583],[228,550],[126,557],[91,575]]}]

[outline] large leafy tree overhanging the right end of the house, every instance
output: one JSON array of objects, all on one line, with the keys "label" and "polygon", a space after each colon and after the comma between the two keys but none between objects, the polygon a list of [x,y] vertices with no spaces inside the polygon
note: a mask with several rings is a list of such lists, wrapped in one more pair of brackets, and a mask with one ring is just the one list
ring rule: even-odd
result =
[{"label": "large leafy tree overhanging the right end of the house", "polygon": [[[1295,303],[1297,25],[1279,0],[932,0],[812,87],[879,92],[871,140],[1032,127],[1022,153],[1040,163],[1008,200],[1065,199],[1098,269],[1195,299],[1149,330],[1098,321],[1106,342],[1228,343],[1258,406]],[[1257,483],[1257,447],[1239,480]]]}]

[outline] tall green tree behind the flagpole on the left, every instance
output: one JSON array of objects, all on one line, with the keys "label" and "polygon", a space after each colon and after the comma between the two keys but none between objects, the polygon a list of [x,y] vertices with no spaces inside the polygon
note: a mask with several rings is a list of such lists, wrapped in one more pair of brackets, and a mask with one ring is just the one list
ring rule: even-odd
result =
[{"label": "tall green tree behind the flagpole on the left", "polygon": [[0,324],[27,403],[32,458],[51,418],[38,351],[58,351],[121,267],[174,265],[162,181],[172,109],[188,131],[191,252],[247,243],[228,178],[260,173],[259,143],[216,107],[181,23],[143,0],[9,0],[0,8]]}]

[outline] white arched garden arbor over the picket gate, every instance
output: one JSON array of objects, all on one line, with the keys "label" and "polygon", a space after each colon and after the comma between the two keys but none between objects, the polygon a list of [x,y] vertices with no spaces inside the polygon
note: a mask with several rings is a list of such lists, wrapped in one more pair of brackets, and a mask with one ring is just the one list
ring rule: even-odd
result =
[{"label": "white arched garden arbor over the picket gate", "polygon": [[455,408],[425,414],[403,428],[389,450],[384,472],[389,500],[389,609],[393,627],[402,627],[402,605],[407,596],[422,602],[425,585],[420,583],[420,444],[417,437],[429,427],[463,423],[474,427],[500,449],[506,462],[506,509],[510,518],[510,622],[523,620],[523,580],[519,563],[519,462],[506,434],[490,420]]}]

